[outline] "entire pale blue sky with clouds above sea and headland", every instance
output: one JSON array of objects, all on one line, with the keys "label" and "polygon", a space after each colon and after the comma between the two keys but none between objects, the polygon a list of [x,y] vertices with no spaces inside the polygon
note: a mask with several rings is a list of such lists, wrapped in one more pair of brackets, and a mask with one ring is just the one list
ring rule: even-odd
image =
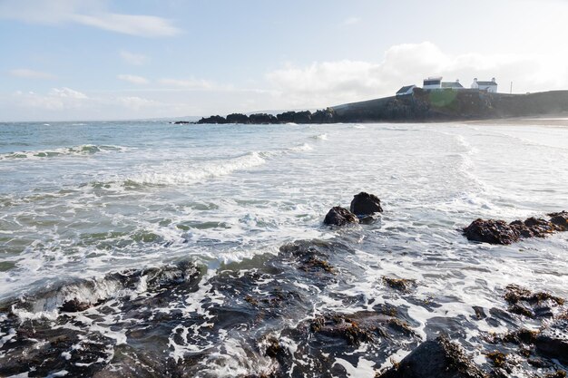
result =
[{"label": "entire pale blue sky with clouds above sea and headland", "polygon": [[0,121],[323,109],[428,76],[568,89],[568,0],[0,0]]}]

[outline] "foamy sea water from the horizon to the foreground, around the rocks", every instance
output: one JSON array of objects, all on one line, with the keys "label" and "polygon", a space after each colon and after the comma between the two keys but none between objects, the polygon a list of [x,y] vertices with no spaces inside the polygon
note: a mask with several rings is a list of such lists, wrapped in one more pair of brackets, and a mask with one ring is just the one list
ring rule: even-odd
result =
[{"label": "foamy sea water from the horizon to the foreground, around the rocks", "polygon": [[[566,182],[554,120],[1,123],[0,376],[374,377],[441,332],[491,369],[487,334],[542,325],[506,286],[568,298],[568,233],[461,228],[568,210]],[[377,221],[322,224],[361,191]]]}]

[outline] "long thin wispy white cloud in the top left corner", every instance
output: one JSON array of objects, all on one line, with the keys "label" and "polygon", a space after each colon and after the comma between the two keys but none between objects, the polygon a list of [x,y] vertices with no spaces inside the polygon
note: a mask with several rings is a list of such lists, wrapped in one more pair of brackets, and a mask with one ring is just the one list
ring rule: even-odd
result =
[{"label": "long thin wispy white cloud in the top left corner", "polygon": [[171,20],[153,15],[114,14],[104,3],[100,0],[4,0],[0,2],[0,18],[34,24],[83,24],[143,37],[181,33]]}]

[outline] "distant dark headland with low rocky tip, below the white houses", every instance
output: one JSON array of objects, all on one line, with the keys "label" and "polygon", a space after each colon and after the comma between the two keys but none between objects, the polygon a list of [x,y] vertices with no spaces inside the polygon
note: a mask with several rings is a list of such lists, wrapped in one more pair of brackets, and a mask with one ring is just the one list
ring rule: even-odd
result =
[{"label": "distant dark headland with low rocky tip, below the white houses", "polygon": [[568,114],[568,91],[506,94],[477,89],[429,91],[414,88],[405,95],[353,102],[324,110],[213,115],[197,123],[338,123],[475,121]]}]

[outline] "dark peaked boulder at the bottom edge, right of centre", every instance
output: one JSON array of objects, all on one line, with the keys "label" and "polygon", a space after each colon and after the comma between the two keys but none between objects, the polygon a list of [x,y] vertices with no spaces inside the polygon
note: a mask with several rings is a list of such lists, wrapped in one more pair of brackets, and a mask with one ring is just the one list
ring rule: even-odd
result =
[{"label": "dark peaked boulder at the bottom edge, right of centre", "polygon": [[464,350],[446,336],[420,344],[411,354],[379,378],[484,378]]}]

